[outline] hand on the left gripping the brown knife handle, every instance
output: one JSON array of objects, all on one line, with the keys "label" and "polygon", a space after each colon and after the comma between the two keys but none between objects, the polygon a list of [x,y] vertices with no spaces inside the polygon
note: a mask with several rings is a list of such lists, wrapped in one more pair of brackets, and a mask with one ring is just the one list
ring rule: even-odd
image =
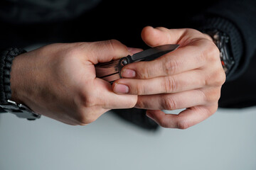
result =
[{"label": "hand on the left gripping the brown knife handle", "polygon": [[[11,67],[11,100],[70,125],[86,125],[112,108],[132,108],[136,95],[114,94],[94,64],[132,55],[117,40],[52,44],[26,52]],[[135,49],[136,50],[136,49]]]}]

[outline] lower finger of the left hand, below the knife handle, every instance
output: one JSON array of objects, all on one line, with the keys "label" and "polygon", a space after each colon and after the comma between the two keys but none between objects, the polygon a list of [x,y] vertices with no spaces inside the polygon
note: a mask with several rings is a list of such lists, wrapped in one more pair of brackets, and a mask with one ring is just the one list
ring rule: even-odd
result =
[{"label": "lower finger of the left hand, below the knife handle", "polygon": [[[105,109],[114,108],[133,108],[137,103],[137,95],[114,94],[111,85],[103,79],[95,79],[95,105],[102,106]],[[93,97],[93,96],[90,96]]]}]

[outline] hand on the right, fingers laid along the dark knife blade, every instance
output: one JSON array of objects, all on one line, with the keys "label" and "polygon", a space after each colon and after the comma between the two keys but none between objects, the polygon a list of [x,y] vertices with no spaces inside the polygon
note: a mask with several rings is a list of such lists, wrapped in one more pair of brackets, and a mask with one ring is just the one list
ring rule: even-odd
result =
[{"label": "hand on the right, fingers laid along the dark knife blade", "polygon": [[[154,47],[180,47],[151,62],[128,64],[112,88],[117,94],[137,94],[137,108],[165,128],[186,129],[200,123],[218,109],[225,72],[220,52],[210,36],[193,29],[146,27],[142,39]],[[126,90],[124,90],[126,89]],[[178,115],[160,110],[186,108]]]}]

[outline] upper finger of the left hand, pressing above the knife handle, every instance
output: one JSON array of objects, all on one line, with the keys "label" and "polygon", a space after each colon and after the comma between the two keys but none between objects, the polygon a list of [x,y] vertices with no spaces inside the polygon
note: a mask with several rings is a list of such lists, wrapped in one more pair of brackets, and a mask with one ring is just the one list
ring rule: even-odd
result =
[{"label": "upper finger of the left hand, pressing above the knife handle", "polygon": [[[139,52],[140,49],[128,48],[118,40],[105,40],[90,42],[89,47],[86,47],[85,51],[87,60],[97,64],[98,62],[110,62],[127,55],[133,55],[133,52]],[[90,52],[90,55],[87,52]]]}]

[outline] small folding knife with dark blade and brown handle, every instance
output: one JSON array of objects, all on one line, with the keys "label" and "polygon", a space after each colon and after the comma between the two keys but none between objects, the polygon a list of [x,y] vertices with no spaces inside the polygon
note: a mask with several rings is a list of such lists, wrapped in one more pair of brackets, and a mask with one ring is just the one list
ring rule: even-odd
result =
[{"label": "small folding knife with dark blade and brown handle", "polygon": [[142,52],[138,52],[132,56],[122,57],[119,60],[112,60],[110,62],[99,63],[95,65],[96,77],[105,79],[112,83],[113,81],[122,78],[121,69],[127,64],[140,61],[151,61],[168,52],[176,50],[179,45],[160,45],[152,47]]}]

